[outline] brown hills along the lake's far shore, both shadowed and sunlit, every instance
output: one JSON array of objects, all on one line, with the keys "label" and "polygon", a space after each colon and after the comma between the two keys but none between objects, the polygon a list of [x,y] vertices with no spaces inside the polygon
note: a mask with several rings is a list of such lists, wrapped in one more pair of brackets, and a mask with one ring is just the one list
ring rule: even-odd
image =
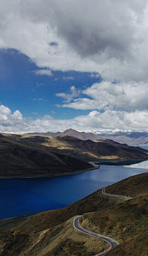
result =
[{"label": "brown hills along the lake's far shore, both shadowed and sunlit", "polygon": [[147,160],[146,152],[140,147],[131,147],[109,139],[94,142],[73,136],[3,133],[0,136],[0,176],[65,175],[92,170],[94,166],[89,162],[99,161],[99,165],[104,160],[112,160],[113,164],[119,160]]}]

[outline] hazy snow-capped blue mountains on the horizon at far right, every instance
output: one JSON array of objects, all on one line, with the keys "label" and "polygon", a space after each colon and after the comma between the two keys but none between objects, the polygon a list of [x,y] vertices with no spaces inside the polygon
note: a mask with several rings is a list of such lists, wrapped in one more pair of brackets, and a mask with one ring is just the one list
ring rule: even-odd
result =
[{"label": "hazy snow-capped blue mountains on the horizon at far right", "polygon": [[126,143],[128,145],[143,145],[148,146],[148,132],[147,131],[117,131],[115,133],[101,133],[103,138],[113,139],[119,143]]}]

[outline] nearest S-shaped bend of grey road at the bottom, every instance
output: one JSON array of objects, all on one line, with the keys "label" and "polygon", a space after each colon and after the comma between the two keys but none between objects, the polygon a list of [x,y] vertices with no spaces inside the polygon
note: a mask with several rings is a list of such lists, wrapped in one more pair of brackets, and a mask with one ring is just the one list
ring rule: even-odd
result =
[{"label": "nearest S-shaped bend of grey road at the bottom", "polygon": [[[82,216],[82,215],[81,215]],[[115,239],[112,239],[110,237],[107,237],[107,236],[103,236],[102,234],[97,234],[97,233],[94,233],[92,231],[89,231],[87,229],[84,229],[80,226],[80,218],[81,216],[78,216],[78,217],[75,217],[74,220],[73,220],[73,226],[74,228],[76,228],[78,231],[80,232],[83,232],[84,234],[88,234],[89,236],[94,236],[94,237],[97,237],[99,239],[102,239],[104,240],[105,242],[108,242],[110,247],[107,249],[107,250],[104,250],[104,252],[101,252],[100,254],[96,254],[94,256],[97,256],[97,255],[105,255],[107,254],[107,252],[109,252],[110,250],[112,250],[115,246],[117,246],[119,244],[119,242],[117,242]]]}]

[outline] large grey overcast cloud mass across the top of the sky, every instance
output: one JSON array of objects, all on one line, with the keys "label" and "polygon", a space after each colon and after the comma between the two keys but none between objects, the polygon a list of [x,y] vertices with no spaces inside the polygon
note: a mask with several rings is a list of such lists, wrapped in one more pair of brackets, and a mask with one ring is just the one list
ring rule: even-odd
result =
[{"label": "large grey overcast cloud mass across the top of the sky", "polygon": [[38,67],[147,81],[147,0],[2,1],[0,47]]}]

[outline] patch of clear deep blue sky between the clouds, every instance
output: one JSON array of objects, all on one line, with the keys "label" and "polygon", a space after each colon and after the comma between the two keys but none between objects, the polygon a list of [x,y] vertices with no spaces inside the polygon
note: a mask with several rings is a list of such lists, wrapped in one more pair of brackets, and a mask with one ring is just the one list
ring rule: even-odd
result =
[{"label": "patch of clear deep blue sky between the clouds", "polygon": [[[24,117],[35,118],[50,115],[53,118],[68,119],[76,115],[89,114],[89,110],[62,111],[57,105],[62,98],[56,96],[70,88],[84,89],[100,78],[91,78],[88,72],[52,71],[50,75],[40,75],[35,63],[15,49],[1,50],[1,104],[14,112],[19,109]],[[46,68],[45,72],[49,71]],[[37,73],[35,73],[37,71]]]}]

